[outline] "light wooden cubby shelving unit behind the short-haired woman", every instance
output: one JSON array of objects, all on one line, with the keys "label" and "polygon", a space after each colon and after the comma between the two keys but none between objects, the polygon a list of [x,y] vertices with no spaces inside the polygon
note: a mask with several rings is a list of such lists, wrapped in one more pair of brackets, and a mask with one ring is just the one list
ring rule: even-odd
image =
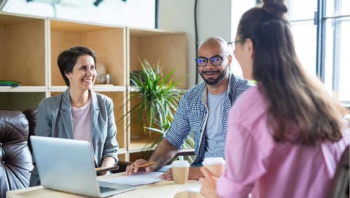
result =
[{"label": "light wooden cubby shelving unit behind the short-haired woman", "polygon": [[[164,73],[179,66],[171,76],[174,80],[186,76],[186,34],[0,11],[0,79],[21,82],[17,87],[0,86],[0,107],[36,108],[41,99],[64,92],[67,86],[57,57],[77,45],[93,49],[110,74],[113,85],[94,85],[93,90],[113,99],[120,159],[130,160],[131,153],[140,156],[148,134],[140,130],[140,138],[131,139],[137,129],[134,123],[127,128],[130,119],[123,117],[130,109],[129,72],[140,70],[140,57],[151,64],[160,59]],[[186,88],[186,83],[184,80],[177,88]]]}]

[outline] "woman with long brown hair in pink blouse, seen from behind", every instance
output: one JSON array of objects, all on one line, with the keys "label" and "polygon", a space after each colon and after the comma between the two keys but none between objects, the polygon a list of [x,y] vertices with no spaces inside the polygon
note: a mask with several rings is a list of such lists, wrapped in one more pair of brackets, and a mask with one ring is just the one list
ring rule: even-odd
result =
[{"label": "woman with long brown hair in pink blouse, seen from behind", "polygon": [[294,48],[283,0],[245,12],[234,55],[246,79],[258,85],[232,107],[225,173],[206,176],[206,197],[321,198],[347,146],[344,109],[306,74]]}]

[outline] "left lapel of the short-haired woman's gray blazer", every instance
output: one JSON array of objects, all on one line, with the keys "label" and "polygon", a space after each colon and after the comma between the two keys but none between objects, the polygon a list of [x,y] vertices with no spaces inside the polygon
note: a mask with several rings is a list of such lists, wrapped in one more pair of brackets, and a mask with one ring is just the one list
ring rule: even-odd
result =
[{"label": "left lapel of the short-haired woman's gray blazer", "polygon": [[73,139],[73,123],[71,117],[71,104],[69,88],[63,93],[60,113],[62,115],[63,126],[68,139]]}]

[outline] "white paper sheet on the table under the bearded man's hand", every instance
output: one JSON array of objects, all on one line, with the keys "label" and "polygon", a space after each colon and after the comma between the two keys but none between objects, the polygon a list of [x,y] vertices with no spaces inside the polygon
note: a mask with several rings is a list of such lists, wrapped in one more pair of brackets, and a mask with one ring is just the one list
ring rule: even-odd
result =
[{"label": "white paper sheet on the table under the bearded man's hand", "polygon": [[132,175],[125,175],[121,177],[109,178],[101,181],[107,181],[112,183],[126,184],[126,185],[143,185],[162,181],[158,178],[163,172],[146,172],[138,171]]}]

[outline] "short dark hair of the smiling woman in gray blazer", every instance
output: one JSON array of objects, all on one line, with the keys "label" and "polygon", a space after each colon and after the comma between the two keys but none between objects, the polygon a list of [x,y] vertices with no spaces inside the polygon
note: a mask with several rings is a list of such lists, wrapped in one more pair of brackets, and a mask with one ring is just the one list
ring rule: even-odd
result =
[{"label": "short dark hair of the smiling woman in gray blazer", "polygon": [[76,64],[76,60],[81,55],[90,55],[94,59],[96,65],[96,53],[85,46],[75,46],[62,51],[57,58],[57,65],[60,69],[63,80],[67,86],[70,86],[70,82],[66,76],[66,73],[70,73]]}]

